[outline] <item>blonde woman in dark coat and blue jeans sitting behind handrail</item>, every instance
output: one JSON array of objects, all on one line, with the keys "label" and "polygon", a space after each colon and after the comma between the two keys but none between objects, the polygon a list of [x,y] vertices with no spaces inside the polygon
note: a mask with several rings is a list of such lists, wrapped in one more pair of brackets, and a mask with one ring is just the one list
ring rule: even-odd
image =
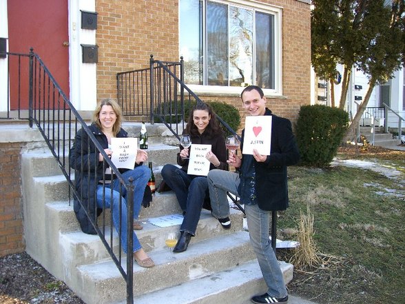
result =
[{"label": "blonde woman in dark coat and blue jeans sitting behind handrail", "polygon": [[[93,114],[93,123],[89,126],[96,141],[103,147],[107,156],[111,157],[110,149],[112,137],[127,137],[127,132],[121,128],[122,112],[114,99],[103,99],[97,104]],[[74,145],[70,149],[70,166],[75,170],[76,191],[81,203],[74,200],[74,212],[81,225],[81,230],[87,234],[96,234],[87,214],[96,221],[94,210],[96,207],[112,209],[112,221],[119,234],[124,252],[127,250],[127,191],[118,179],[111,177],[110,168],[105,164],[103,155],[98,152],[96,146],[90,141],[87,133],[81,129],[76,133]],[[120,169],[125,181],[132,180],[134,185],[134,219],[138,218],[141,210],[141,202],[145,192],[145,186],[150,177],[150,170],[143,162],[147,161],[147,152],[138,150],[136,154],[135,168]],[[121,206],[120,206],[121,204]],[[121,210],[121,214],[120,214]],[[87,214],[86,214],[87,212]],[[143,227],[134,223],[134,229]],[[136,234],[132,232],[134,244],[133,256],[141,267],[153,267],[154,261],[147,256],[141,247]]]}]

